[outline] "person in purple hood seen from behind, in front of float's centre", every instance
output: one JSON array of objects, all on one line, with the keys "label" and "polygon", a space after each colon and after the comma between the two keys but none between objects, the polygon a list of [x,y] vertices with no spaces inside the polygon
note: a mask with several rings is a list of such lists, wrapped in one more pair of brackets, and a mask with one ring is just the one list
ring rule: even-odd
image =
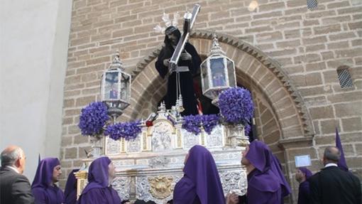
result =
[{"label": "person in purple hood seen from behind, in front of float's centre", "polygon": [[175,185],[174,204],[224,204],[224,191],[212,154],[193,146],[185,157],[184,176]]}]

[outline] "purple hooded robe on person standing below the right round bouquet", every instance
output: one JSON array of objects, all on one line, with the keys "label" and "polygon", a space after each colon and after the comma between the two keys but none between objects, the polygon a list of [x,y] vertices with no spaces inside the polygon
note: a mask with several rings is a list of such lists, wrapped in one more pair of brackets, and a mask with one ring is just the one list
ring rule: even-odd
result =
[{"label": "purple hooded robe on person standing below the right round bouquet", "polygon": [[279,204],[290,193],[278,159],[261,141],[252,141],[246,159],[255,169],[248,173],[248,204]]}]

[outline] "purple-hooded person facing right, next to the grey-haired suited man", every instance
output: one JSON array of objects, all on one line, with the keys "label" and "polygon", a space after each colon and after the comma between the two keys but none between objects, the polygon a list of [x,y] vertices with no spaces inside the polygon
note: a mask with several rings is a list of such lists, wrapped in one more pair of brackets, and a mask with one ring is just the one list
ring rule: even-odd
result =
[{"label": "purple-hooded person facing right, next to the grey-haired suited man", "polygon": [[61,204],[64,202],[64,193],[55,183],[62,175],[60,161],[57,158],[45,158],[38,164],[35,178],[31,184],[31,192],[35,204]]}]

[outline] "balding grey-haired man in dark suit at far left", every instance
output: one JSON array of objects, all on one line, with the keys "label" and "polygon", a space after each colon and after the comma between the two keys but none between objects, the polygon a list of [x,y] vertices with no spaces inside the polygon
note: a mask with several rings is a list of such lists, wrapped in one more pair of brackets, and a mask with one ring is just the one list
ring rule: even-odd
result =
[{"label": "balding grey-haired man in dark suit at far left", "polygon": [[18,146],[8,146],[1,152],[0,203],[34,203],[28,178],[22,175],[25,155]]}]

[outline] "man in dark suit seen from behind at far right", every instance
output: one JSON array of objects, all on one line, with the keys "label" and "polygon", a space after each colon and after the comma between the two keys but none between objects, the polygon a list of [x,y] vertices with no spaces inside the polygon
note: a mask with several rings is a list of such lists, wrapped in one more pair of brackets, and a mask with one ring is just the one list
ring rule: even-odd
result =
[{"label": "man in dark suit seen from behind at far right", "polygon": [[313,204],[361,204],[361,183],[337,166],[341,152],[335,146],[324,150],[322,171],[308,179]]}]

